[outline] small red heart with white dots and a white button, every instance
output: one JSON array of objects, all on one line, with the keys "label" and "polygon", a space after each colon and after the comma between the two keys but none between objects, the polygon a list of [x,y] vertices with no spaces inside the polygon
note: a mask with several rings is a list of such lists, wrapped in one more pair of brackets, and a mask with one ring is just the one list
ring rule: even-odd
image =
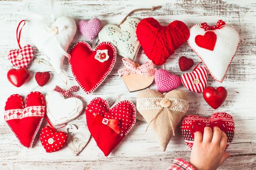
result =
[{"label": "small red heart with white dots and a white button", "polygon": [[62,149],[67,142],[68,136],[65,132],[55,132],[50,126],[42,128],[40,141],[47,153]]}]

